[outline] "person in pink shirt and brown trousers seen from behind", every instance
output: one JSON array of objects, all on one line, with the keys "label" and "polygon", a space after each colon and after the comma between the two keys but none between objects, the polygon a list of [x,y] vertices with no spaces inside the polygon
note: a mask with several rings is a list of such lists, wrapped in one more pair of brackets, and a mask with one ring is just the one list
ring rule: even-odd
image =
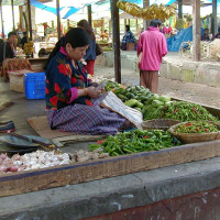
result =
[{"label": "person in pink shirt and brown trousers seen from behind", "polygon": [[140,85],[152,92],[158,92],[158,70],[162,57],[167,54],[166,38],[160,32],[161,21],[152,20],[146,31],[141,33],[138,44],[140,58]]}]

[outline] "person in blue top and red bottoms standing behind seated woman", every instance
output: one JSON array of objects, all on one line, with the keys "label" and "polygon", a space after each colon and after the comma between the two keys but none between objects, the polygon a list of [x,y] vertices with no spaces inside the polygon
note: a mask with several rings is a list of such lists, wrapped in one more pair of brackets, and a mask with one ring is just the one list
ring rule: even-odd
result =
[{"label": "person in blue top and red bottoms standing behind seated woman", "polygon": [[89,47],[86,51],[86,55],[84,56],[85,62],[87,63],[85,68],[88,74],[94,76],[94,67],[95,67],[95,61],[96,61],[96,36],[92,32],[92,29],[87,20],[81,20],[77,23],[79,28],[82,28],[86,30],[86,32],[90,36],[90,43]]}]

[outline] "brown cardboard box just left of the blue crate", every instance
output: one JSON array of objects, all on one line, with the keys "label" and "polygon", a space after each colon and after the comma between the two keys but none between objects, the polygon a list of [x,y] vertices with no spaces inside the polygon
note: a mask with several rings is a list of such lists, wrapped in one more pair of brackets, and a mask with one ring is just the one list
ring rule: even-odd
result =
[{"label": "brown cardboard box just left of the blue crate", "polygon": [[26,73],[33,73],[33,72],[29,69],[8,72],[11,90],[24,92],[24,74]]}]

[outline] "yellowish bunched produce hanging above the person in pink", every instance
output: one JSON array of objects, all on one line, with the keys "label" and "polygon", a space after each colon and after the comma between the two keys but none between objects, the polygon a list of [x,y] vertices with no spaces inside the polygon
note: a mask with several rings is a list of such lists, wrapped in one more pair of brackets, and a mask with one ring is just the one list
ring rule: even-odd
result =
[{"label": "yellowish bunched produce hanging above the person in pink", "polygon": [[174,6],[152,4],[146,7],[145,9],[142,9],[135,3],[118,1],[117,7],[133,16],[146,20],[167,20],[176,14],[176,8]]}]

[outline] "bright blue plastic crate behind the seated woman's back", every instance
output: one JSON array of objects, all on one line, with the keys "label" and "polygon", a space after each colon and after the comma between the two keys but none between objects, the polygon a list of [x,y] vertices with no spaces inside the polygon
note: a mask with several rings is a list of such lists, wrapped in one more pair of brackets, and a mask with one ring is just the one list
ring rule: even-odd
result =
[{"label": "bright blue plastic crate behind the seated woman's back", "polygon": [[24,74],[24,88],[26,99],[44,99],[45,73]]}]

